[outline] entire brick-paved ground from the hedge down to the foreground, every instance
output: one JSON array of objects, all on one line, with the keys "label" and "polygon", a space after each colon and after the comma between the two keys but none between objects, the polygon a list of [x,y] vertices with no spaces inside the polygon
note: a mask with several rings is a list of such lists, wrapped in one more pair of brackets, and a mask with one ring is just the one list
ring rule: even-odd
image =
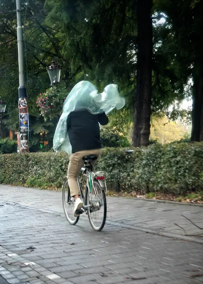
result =
[{"label": "entire brick-paved ground from the hedge down to the foreground", "polygon": [[61,192],[0,185],[0,284],[203,282],[202,206],[107,205],[95,232],[85,215],[69,225]]}]

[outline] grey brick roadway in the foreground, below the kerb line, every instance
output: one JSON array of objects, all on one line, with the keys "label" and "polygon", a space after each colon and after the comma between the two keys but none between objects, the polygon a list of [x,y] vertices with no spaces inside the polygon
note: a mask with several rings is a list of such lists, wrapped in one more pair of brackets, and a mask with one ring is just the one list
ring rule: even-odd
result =
[{"label": "grey brick roadway in the foreground, below the kerb line", "polygon": [[112,224],[95,232],[87,218],[71,226],[58,213],[1,198],[0,274],[9,283],[194,284],[202,273],[202,244]]}]

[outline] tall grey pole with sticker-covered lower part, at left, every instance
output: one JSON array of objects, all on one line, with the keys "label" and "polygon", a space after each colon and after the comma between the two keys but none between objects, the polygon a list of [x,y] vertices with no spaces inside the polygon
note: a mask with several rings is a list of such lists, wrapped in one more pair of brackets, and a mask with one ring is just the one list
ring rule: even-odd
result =
[{"label": "tall grey pole with sticker-covered lower part, at left", "polygon": [[18,67],[19,67],[18,109],[19,109],[19,129],[20,129],[18,152],[24,153],[29,151],[28,147],[29,120],[28,120],[26,87],[24,83],[21,0],[16,0],[16,11],[17,11],[17,49],[18,49]]}]

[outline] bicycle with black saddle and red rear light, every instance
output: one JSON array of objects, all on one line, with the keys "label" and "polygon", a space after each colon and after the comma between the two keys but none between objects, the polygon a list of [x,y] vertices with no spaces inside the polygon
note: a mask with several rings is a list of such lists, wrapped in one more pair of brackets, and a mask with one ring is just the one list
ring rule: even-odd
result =
[{"label": "bicycle with black saddle and red rear light", "polygon": [[[80,190],[80,198],[82,198],[84,205],[80,210],[77,210],[76,213],[86,213],[91,227],[96,231],[100,231],[106,220],[105,172],[92,172],[91,161],[97,159],[96,155],[87,155],[82,159],[84,166],[81,168],[81,172],[86,179],[85,193],[83,193],[78,177],[77,182]],[[63,184],[62,205],[66,219],[71,225],[75,225],[79,220],[79,216],[75,217],[73,215],[74,197],[70,196],[68,176],[66,176],[66,180]],[[94,218],[94,214],[98,214],[99,216]]]}]

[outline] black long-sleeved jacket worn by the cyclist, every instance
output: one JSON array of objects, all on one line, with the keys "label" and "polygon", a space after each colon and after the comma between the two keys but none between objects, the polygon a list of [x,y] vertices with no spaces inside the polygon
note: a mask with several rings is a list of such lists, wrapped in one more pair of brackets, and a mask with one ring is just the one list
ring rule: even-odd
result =
[{"label": "black long-sleeved jacket worn by the cyclist", "polygon": [[106,125],[108,117],[91,114],[88,110],[72,111],[67,117],[67,131],[72,146],[72,153],[82,150],[100,149],[99,124]]}]

